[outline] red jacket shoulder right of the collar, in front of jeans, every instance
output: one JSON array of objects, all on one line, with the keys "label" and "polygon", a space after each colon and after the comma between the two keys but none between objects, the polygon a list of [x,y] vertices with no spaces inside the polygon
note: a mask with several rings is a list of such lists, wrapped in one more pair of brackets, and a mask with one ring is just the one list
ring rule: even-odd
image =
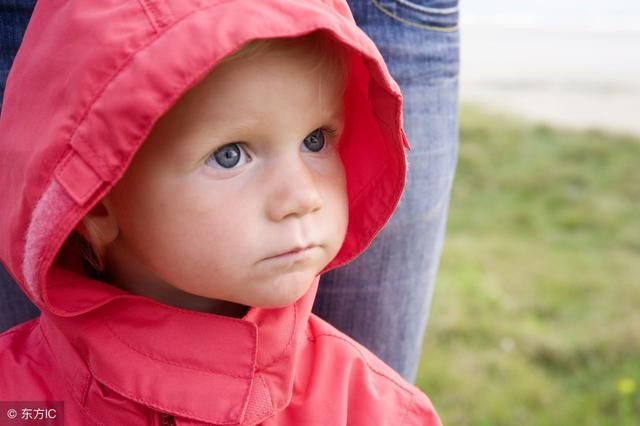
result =
[{"label": "red jacket shoulder right of the collar, in front of jeans", "polygon": [[307,417],[295,424],[441,426],[429,398],[364,346],[315,316],[308,337],[292,404]]}]

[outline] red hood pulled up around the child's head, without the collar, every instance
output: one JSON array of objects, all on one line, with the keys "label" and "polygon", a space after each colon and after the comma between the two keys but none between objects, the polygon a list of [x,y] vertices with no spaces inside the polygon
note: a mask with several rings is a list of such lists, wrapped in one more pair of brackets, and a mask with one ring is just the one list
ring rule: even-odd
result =
[{"label": "red hood pulled up around the child's head, without the collar", "polygon": [[154,123],[242,44],[313,31],[351,52],[341,152],[350,222],[326,271],[358,256],[388,221],[408,147],[399,89],[344,1],[39,1],[0,116],[0,259],[28,297],[59,315],[85,310],[53,305],[47,276]]}]

